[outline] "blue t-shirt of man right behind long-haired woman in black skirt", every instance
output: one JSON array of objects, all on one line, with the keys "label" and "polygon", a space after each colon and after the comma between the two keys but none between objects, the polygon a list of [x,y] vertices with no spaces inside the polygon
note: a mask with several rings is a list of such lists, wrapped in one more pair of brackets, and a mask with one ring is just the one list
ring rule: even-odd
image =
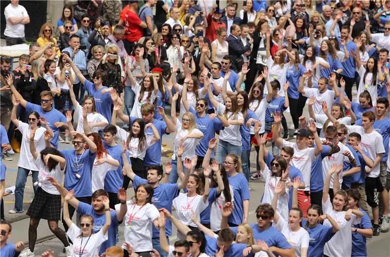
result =
[{"label": "blue t-shirt of man right behind long-haired woman in black skirt", "polygon": [[[133,121],[137,117],[129,116],[130,124],[133,124]],[[167,124],[164,121],[159,121],[154,119],[152,122],[155,125],[158,134],[160,135],[160,140],[156,141],[151,147],[146,150],[145,157],[143,158],[144,166],[151,165],[160,165],[161,164],[161,145],[162,145],[162,135],[167,133]],[[152,128],[145,130],[145,136],[154,136]]]}]

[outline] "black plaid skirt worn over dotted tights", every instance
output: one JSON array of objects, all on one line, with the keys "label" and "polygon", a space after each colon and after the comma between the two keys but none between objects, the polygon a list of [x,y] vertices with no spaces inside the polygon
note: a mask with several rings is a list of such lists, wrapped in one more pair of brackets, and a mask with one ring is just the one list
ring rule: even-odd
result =
[{"label": "black plaid skirt worn over dotted tights", "polygon": [[34,219],[60,220],[61,195],[52,195],[38,187],[27,215]]}]

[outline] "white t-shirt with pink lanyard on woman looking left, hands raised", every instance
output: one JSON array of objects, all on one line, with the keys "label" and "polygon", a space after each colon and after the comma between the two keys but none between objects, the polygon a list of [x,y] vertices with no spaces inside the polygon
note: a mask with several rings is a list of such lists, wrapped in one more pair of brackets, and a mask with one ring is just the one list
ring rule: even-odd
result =
[{"label": "white t-shirt with pink lanyard on woman looking left, hands raised", "polygon": [[191,220],[192,210],[196,213],[196,219],[200,220],[200,213],[206,209],[209,205],[209,200],[203,202],[203,196],[195,195],[193,197],[187,197],[187,193],[180,193],[172,201],[172,205],[176,209],[177,220],[180,220],[186,226],[197,227],[194,221]]}]

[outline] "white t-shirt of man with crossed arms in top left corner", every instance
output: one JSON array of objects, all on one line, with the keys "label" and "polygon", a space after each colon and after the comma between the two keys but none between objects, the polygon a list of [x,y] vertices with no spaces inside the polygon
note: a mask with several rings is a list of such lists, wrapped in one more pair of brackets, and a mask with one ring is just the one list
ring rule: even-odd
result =
[{"label": "white t-shirt of man with crossed arms in top left corner", "polygon": [[11,24],[9,21],[10,17],[14,18],[20,18],[20,17],[27,17],[28,13],[26,11],[26,8],[18,4],[18,6],[14,6],[12,4],[8,4],[7,7],[4,9],[4,16],[5,16],[5,30],[4,30],[4,36],[7,37],[24,37],[24,24],[18,23],[18,24]]}]

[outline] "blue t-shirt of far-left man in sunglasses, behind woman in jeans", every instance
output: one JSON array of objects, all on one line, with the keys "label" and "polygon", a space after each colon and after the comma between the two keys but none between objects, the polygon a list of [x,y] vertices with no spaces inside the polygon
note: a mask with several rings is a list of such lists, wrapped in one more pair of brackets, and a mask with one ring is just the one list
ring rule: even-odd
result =
[{"label": "blue t-shirt of far-left man in sunglasses, behind woman in jeans", "polygon": [[[53,133],[54,133],[54,137],[52,138],[52,140],[50,140],[50,143],[53,145],[54,148],[57,148],[58,147],[58,135],[59,135],[60,128],[56,128],[54,126],[54,124],[56,122],[63,122],[66,124],[67,123],[66,117],[61,112],[59,112],[59,110],[56,110],[54,108],[52,108],[52,110],[45,111],[45,110],[43,110],[43,108],[40,105],[36,105],[36,104],[32,104],[32,103],[27,102],[26,112],[30,113],[32,111],[36,111],[39,113],[39,115],[46,118],[47,125],[49,125],[50,129],[52,129]],[[111,120],[111,118],[110,118],[110,120]]]}]

